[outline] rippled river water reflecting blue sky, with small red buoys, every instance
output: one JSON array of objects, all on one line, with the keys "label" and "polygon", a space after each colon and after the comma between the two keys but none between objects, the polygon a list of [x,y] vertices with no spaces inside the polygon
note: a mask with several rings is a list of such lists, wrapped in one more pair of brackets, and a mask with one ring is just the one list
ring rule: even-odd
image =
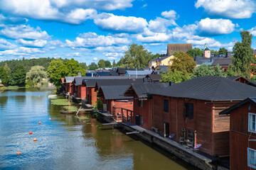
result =
[{"label": "rippled river water reflecting blue sky, with small red buoys", "polygon": [[48,93],[0,93],[0,169],[194,169],[94,118],[60,114]]}]

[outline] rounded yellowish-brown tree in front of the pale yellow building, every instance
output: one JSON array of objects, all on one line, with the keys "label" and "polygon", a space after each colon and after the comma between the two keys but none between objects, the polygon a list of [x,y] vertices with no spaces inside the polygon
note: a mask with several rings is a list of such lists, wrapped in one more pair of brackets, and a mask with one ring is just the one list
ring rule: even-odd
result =
[{"label": "rounded yellowish-brown tree in front of the pale yellow building", "polygon": [[171,59],[171,63],[171,69],[173,71],[181,71],[183,74],[188,75],[188,77],[193,73],[193,69],[196,67],[196,62],[193,58],[184,52],[179,52],[176,57]]}]

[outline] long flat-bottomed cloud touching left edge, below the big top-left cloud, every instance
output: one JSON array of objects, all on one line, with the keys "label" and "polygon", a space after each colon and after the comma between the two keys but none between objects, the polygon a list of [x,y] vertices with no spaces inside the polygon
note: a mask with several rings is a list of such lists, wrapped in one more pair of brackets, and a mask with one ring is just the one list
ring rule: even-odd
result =
[{"label": "long flat-bottomed cloud touching left edge, below the big top-left cloud", "polygon": [[31,39],[31,40],[43,40],[48,39],[50,36],[45,30],[41,28],[32,28],[31,26],[16,26],[16,27],[6,27],[0,30],[0,35],[6,38],[12,39]]}]

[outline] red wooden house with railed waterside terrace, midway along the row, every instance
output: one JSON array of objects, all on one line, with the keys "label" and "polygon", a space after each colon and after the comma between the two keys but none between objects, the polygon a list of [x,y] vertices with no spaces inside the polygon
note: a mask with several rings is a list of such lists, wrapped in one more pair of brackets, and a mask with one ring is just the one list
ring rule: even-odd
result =
[{"label": "red wooden house with railed waterside terrace, midway along the row", "polygon": [[100,86],[97,97],[103,103],[103,111],[114,115],[117,122],[132,121],[133,97],[124,96],[129,85]]}]

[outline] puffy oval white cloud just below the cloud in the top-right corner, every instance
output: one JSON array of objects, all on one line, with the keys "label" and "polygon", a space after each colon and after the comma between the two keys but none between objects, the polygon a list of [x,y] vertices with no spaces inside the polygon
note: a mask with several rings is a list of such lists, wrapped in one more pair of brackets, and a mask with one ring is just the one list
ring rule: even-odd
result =
[{"label": "puffy oval white cloud just below the cloud in the top-right corner", "polygon": [[197,23],[199,35],[213,36],[232,33],[235,30],[235,24],[228,19],[210,19],[205,18]]}]

